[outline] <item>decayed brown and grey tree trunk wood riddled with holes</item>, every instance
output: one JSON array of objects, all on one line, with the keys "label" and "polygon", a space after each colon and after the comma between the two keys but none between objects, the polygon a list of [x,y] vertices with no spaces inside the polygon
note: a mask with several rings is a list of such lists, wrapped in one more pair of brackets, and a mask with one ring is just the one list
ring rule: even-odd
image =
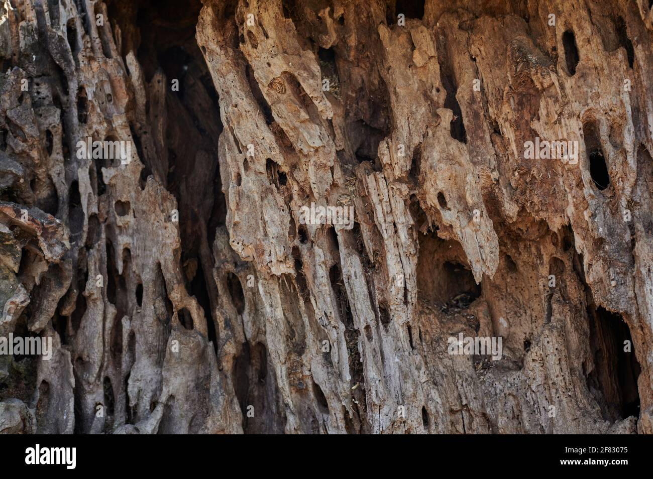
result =
[{"label": "decayed brown and grey tree trunk wood riddled with holes", "polygon": [[0,13],[0,432],[653,432],[648,1]]}]

